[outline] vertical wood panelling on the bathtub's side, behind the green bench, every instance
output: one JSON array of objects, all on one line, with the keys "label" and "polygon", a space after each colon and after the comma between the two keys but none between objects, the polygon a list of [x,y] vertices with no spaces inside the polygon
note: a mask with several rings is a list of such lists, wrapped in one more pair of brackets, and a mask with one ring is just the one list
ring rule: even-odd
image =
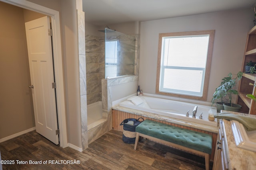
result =
[{"label": "vertical wood panelling on the bathtub's side, behind the green bench", "polygon": [[134,118],[134,119],[138,119],[142,117],[143,119],[150,119],[153,121],[158,121],[161,123],[166,123],[168,125],[172,125],[172,126],[176,126],[176,127],[181,127],[184,129],[190,129],[193,131],[198,131],[198,132],[202,132],[202,133],[207,133],[212,135],[212,154],[210,155],[210,160],[213,161],[214,160],[214,153],[215,153],[215,148],[216,148],[216,140],[217,140],[217,133],[213,133],[213,132],[208,132],[208,131],[204,131],[204,130],[200,130],[200,129],[195,129],[192,127],[188,127],[188,126],[184,126],[184,125],[178,125],[175,123],[171,123],[171,122],[167,122],[167,121],[162,121],[162,120],[157,120],[154,118],[150,118],[150,117],[145,117],[145,116],[141,116],[141,115],[136,115],[136,114],[132,114],[132,113],[128,113],[125,111],[119,111],[119,110],[114,110],[112,109],[112,129],[116,130],[116,131],[123,131],[123,126],[120,126],[120,123],[124,120],[124,119],[128,119],[128,118]]}]

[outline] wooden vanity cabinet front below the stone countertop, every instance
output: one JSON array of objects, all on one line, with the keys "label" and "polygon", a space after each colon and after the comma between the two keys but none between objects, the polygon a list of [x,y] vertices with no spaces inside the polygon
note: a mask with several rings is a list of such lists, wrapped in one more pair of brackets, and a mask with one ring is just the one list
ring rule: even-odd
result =
[{"label": "wooden vanity cabinet front below the stone countertop", "polygon": [[214,154],[213,170],[228,169],[228,145],[225,135],[225,128],[222,119],[220,119],[219,132],[217,137],[216,149]]}]

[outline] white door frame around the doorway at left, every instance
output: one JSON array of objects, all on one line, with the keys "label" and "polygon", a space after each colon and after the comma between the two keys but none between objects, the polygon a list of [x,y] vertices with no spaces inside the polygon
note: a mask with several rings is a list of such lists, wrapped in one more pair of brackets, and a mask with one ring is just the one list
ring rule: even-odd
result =
[{"label": "white door frame around the doorway at left", "polygon": [[56,10],[34,4],[26,0],[0,0],[7,4],[18,6],[27,10],[32,10],[51,17],[52,20],[52,52],[54,59],[54,72],[56,80],[56,106],[58,109],[58,126],[60,129],[60,147],[68,147],[67,126],[66,126],[66,107],[64,96],[64,75],[62,64],[62,48],[60,36],[60,14]]}]

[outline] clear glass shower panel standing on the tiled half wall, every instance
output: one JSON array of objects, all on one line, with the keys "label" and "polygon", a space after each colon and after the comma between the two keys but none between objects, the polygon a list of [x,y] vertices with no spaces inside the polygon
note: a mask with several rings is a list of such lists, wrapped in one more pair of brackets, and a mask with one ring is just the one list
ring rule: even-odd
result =
[{"label": "clear glass shower panel standing on the tiled half wall", "polygon": [[135,36],[105,28],[105,78],[134,74]]}]

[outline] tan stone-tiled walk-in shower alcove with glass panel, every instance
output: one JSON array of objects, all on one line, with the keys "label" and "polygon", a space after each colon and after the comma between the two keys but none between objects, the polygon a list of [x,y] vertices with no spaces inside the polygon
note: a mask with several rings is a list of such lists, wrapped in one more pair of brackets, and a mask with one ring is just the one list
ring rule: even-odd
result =
[{"label": "tan stone-tiled walk-in shower alcove with glass panel", "polygon": [[99,35],[85,36],[88,143],[112,129],[112,104],[104,102],[109,98],[108,80],[137,72],[138,35],[108,28]]}]

